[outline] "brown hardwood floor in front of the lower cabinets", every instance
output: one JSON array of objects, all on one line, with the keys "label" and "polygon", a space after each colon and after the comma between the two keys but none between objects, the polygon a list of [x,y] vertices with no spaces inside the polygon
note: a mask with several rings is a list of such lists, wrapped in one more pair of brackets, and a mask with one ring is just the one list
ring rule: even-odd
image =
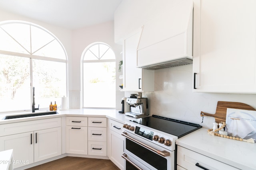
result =
[{"label": "brown hardwood floor in front of the lower cabinets", "polygon": [[119,168],[111,160],[67,156],[27,170],[119,170]]}]

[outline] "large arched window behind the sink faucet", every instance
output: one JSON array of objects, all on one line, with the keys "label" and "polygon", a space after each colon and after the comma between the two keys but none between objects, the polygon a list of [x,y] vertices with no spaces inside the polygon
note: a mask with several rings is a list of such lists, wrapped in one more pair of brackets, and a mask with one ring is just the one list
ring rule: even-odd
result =
[{"label": "large arched window behind the sink faucet", "polygon": [[67,95],[67,55],[60,41],[39,25],[0,22],[0,112],[49,108]]}]

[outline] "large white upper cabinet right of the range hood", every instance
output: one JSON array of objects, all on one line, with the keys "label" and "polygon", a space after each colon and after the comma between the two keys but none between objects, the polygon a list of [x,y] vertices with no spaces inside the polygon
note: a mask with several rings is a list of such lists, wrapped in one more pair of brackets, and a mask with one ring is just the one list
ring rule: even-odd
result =
[{"label": "large white upper cabinet right of the range hood", "polygon": [[255,0],[194,0],[194,92],[256,93],[255,9]]}]

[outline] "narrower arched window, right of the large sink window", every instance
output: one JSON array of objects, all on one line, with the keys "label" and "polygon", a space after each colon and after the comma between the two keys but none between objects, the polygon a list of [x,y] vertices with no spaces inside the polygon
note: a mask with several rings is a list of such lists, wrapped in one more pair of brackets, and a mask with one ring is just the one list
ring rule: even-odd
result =
[{"label": "narrower arched window, right of the large sink window", "polygon": [[116,107],[116,59],[105,43],[93,43],[82,54],[83,107]]}]

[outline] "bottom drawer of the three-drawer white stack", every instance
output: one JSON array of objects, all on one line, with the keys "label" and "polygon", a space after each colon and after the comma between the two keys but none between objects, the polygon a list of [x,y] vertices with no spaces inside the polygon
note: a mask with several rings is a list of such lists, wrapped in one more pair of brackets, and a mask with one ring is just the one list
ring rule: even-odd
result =
[{"label": "bottom drawer of the three-drawer white stack", "polygon": [[88,155],[107,156],[107,143],[88,141]]}]

